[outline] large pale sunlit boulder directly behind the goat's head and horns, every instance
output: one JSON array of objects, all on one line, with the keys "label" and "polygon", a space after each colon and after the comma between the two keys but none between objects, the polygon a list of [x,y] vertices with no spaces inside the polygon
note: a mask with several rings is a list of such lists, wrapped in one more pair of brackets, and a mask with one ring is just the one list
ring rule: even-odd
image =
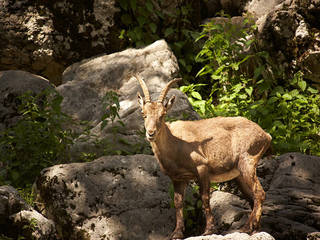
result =
[{"label": "large pale sunlit boulder directly behind the goat's head and horns", "polygon": [[[64,97],[62,110],[79,121],[90,121],[93,129],[89,139],[76,142],[72,155],[79,159],[81,152],[104,154],[150,153],[144,140],[144,125],[137,102],[140,91],[138,81],[132,77],[139,74],[146,81],[151,97],[155,100],[172,78],[179,72],[177,59],[164,40],[142,49],[125,51],[86,59],[68,67],[63,73],[63,84],[57,91]],[[101,129],[103,97],[108,91],[119,95],[119,116],[124,126],[109,123]],[[176,103],[169,113],[169,119],[199,119],[185,94],[171,89],[168,96],[176,95]],[[114,129],[116,127],[116,133]],[[99,144],[96,144],[96,143]],[[100,144],[101,143],[101,144]],[[108,150],[110,149],[110,150]]]}]

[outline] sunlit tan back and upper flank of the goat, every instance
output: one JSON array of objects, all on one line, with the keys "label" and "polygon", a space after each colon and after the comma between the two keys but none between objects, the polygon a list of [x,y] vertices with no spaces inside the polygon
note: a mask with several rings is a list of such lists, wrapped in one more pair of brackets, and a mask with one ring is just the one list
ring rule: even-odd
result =
[{"label": "sunlit tan back and upper flank of the goat", "polygon": [[244,117],[216,117],[168,124],[172,134],[189,143],[197,143],[204,152],[238,155],[257,154],[271,142],[271,136],[258,124]]}]

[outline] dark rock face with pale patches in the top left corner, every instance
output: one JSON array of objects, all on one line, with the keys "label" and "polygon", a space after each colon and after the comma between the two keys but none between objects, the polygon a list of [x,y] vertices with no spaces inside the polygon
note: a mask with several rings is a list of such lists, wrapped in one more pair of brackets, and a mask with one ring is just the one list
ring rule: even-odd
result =
[{"label": "dark rock face with pale patches in the top left corner", "polygon": [[61,83],[66,66],[119,50],[114,0],[0,2],[0,70],[23,69]]}]

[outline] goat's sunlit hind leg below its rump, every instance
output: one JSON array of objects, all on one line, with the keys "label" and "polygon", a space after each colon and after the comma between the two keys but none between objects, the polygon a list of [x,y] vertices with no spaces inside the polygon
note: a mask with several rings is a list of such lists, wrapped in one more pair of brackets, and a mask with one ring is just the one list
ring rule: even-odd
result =
[{"label": "goat's sunlit hind leg below its rump", "polygon": [[260,156],[247,156],[239,161],[240,176],[237,181],[240,189],[249,198],[252,212],[241,231],[253,233],[260,227],[262,215],[262,203],[265,200],[265,192],[256,174],[256,166]]}]

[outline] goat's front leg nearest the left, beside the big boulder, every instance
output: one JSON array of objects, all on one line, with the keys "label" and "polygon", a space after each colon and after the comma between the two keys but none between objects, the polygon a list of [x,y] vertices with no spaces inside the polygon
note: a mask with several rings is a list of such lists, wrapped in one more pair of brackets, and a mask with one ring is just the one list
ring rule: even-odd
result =
[{"label": "goat's front leg nearest the left, beside the big boulder", "polygon": [[184,232],[183,220],[183,199],[187,186],[186,182],[173,181],[174,186],[174,206],[176,208],[176,228],[170,236],[170,239],[182,239]]}]

